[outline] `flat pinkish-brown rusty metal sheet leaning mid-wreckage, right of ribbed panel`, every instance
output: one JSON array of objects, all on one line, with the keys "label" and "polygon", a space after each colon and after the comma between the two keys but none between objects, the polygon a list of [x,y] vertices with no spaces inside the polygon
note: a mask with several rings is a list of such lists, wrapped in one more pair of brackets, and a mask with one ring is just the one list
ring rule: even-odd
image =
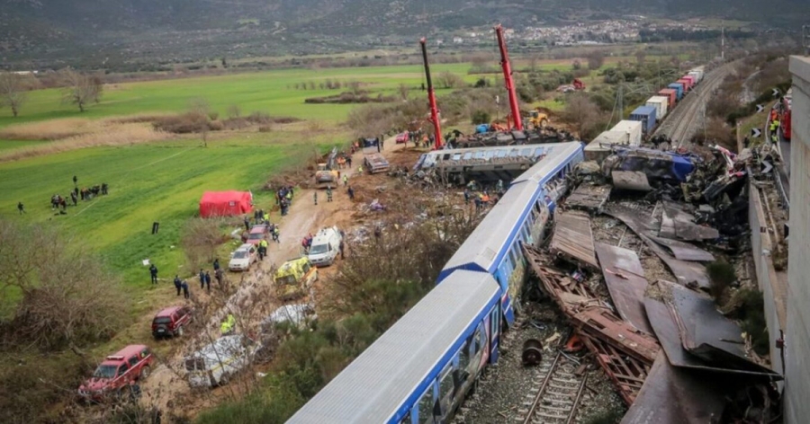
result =
[{"label": "flat pinkish-brown rusty metal sheet leaning mid-wreckage, right of ribbed panel", "polygon": [[644,311],[644,292],[648,283],[638,255],[603,243],[596,243],[596,252],[618,314],[636,329],[653,334]]}]

